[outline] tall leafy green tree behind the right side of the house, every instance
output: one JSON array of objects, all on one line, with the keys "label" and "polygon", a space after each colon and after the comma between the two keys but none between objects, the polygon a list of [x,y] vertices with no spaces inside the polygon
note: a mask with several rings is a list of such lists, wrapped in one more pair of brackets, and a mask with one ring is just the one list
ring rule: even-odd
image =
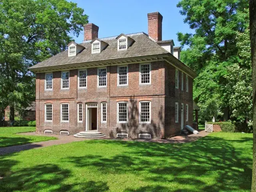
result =
[{"label": "tall leafy green tree behind the right side of the house", "polygon": [[[248,28],[245,16],[248,14],[248,1],[181,0],[177,6],[182,8],[180,13],[185,16],[184,22],[195,31],[194,34],[178,33],[181,45],[189,47],[183,51],[182,61],[199,74],[194,80],[194,100],[207,108],[206,105],[215,98],[219,111],[225,112],[226,118],[236,118],[237,115],[240,118],[241,111],[234,116],[240,107],[232,105],[234,90],[229,92],[226,85],[230,80],[229,73],[234,71],[229,67],[234,63],[241,64],[237,37]],[[236,91],[240,86],[237,84]],[[243,98],[236,96],[236,99]]]}]

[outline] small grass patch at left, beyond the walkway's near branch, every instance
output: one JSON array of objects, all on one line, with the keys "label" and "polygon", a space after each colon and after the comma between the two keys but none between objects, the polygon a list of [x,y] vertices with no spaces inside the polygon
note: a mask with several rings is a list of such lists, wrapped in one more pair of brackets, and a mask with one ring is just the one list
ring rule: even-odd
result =
[{"label": "small grass patch at left, beyond the walkway's near branch", "polygon": [[56,139],[55,137],[17,134],[34,131],[36,131],[35,127],[0,127],[0,148]]}]

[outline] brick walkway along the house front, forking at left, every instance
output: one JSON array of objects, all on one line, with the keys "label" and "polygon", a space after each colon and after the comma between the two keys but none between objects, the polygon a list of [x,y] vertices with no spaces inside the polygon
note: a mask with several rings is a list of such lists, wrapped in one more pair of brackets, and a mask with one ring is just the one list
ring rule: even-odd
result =
[{"label": "brick walkway along the house front, forking at left", "polygon": [[[29,150],[33,148],[41,148],[46,146],[52,146],[52,145],[59,145],[59,144],[66,144],[70,142],[76,142],[76,141],[83,141],[83,140],[92,140],[92,139],[111,139],[111,140],[121,140],[116,138],[76,138],[73,135],[45,135],[45,134],[37,134],[36,132],[28,132],[28,133],[20,133],[24,135],[36,135],[36,136],[54,136],[57,137],[58,140],[49,140],[49,141],[42,141],[37,143],[29,143],[29,144],[23,144],[23,145],[16,145],[16,146],[9,146],[9,147],[3,147],[0,148],[0,155],[8,154],[8,153],[14,153],[14,152],[20,152],[23,150]],[[186,143],[186,142],[193,142],[198,140],[201,137],[204,137],[208,135],[208,132],[200,131],[199,134],[191,134],[188,136],[175,136],[168,139],[122,139],[125,141],[141,141],[141,142],[158,142],[158,143]]]}]

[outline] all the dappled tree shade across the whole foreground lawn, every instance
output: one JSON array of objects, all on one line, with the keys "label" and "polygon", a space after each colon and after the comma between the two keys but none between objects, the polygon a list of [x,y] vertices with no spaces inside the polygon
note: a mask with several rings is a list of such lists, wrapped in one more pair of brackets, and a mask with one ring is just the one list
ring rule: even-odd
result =
[{"label": "all the dappled tree shade across the whole foreground lawn", "polygon": [[[244,144],[252,144],[252,138],[244,138]],[[244,154],[236,140],[208,136],[189,144],[159,144],[152,142],[124,142],[117,140],[90,140],[87,143],[112,145],[120,148],[113,156],[104,154],[67,156],[58,161],[68,166],[41,164],[12,172],[18,162],[0,157],[0,191],[99,191],[109,190],[104,179],[101,182],[78,182],[71,167],[90,171],[102,178],[112,174],[134,174],[147,186],[131,186],[124,191],[241,191],[250,190],[252,158]],[[82,144],[82,142],[81,142]],[[241,143],[242,144],[242,143]],[[234,147],[238,145],[238,147]],[[249,147],[248,147],[249,148]],[[93,148],[91,149],[93,150]],[[78,169],[81,168],[81,169]],[[65,182],[73,178],[75,182]],[[133,181],[134,182],[134,181]],[[116,185],[120,181],[116,181]],[[174,188],[170,188],[170,184]]]}]

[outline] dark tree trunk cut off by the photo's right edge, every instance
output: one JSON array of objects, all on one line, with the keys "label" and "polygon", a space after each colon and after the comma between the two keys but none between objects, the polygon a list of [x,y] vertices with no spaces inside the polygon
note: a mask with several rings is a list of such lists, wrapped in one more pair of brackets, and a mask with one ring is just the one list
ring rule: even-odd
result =
[{"label": "dark tree trunk cut off by the photo's right edge", "polygon": [[253,164],[252,192],[256,192],[256,1],[249,1],[250,40],[252,52],[252,89],[253,89]]}]

